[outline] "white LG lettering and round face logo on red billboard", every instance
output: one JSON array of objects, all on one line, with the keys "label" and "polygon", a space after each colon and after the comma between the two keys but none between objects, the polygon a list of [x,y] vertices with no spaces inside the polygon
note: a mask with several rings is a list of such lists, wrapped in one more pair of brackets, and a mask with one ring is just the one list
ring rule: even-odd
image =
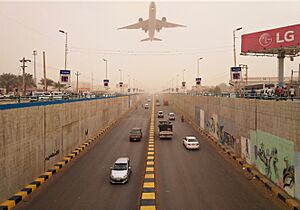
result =
[{"label": "white LG lettering and round face logo on red billboard", "polygon": [[[286,31],[284,34],[276,33],[276,43],[284,43],[284,42],[292,42],[295,40],[295,32],[294,31]],[[259,44],[263,47],[267,47],[272,44],[273,38],[269,33],[263,33],[259,37]]]}]

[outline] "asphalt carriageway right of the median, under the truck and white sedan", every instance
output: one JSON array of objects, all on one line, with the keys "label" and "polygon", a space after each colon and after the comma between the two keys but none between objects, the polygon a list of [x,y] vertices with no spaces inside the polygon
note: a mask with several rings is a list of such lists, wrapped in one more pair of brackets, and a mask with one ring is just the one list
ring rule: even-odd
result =
[{"label": "asphalt carriageway right of the median, under the truck and white sedan", "polygon": [[[165,118],[173,112],[160,106]],[[176,113],[175,113],[176,114]],[[288,209],[270,192],[226,159],[210,142],[202,139],[179,115],[172,140],[159,140],[156,133],[157,205],[162,210],[276,210]],[[156,123],[157,125],[157,123]],[[183,146],[187,135],[196,136],[200,150]]]}]

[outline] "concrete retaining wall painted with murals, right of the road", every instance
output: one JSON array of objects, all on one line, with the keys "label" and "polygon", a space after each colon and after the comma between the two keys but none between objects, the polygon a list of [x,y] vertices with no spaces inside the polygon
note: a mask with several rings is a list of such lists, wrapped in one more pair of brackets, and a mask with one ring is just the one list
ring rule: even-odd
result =
[{"label": "concrete retaining wall painted with murals, right of the road", "polygon": [[300,198],[300,103],[166,94],[201,129]]}]

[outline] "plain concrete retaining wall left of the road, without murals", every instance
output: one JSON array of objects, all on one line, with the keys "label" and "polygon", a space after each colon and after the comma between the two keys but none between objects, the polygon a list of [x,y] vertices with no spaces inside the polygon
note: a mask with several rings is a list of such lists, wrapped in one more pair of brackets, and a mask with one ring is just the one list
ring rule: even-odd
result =
[{"label": "plain concrete retaining wall left of the road, without murals", "polygon": [[0,110],[0,203],[120,118],[138,98],[124,96]]}]

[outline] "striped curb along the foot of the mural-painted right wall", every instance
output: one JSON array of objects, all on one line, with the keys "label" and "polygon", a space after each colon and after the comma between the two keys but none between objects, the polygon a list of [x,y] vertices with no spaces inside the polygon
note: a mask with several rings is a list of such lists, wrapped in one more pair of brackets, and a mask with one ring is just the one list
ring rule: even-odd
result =
[{"label": "striped curb along the foot of the mural-painted right wall", "polygon": [[[178,110],[181,114],[184,114],[180,108],[177,106],[173,106],[176,110]],[[300,203],[292,198],[290,195],[288,195],[285,191],[283,191],[281,188],[279,188],[277,185],[275,185],[273,182],[271,182],[269,179],[267,179],[264,175],[262,175],[259,171],[253,168],[253,166],[249,165],[248,163],[245,163],[243,159],[238,158],[237,154],[233,153],[232,151],[228,150],[223,144],[217,142],[217,140],[214,139],[209,133],[205,132],[201,128],[199,128],[192,119],[187,117],[187,122],[197,131],[200,133],[200,135],[206,137],[208,140],[211,140],[212,143],[217,144],[227,155],[231,156],[234,160],[236,160],[243,169],[247,170],[249,173],[253,175],[256,179],[260,180],[265,187],[270,190],[276,198],[280,199],[281,201],[285,202],[285,204],[293,209],[293,210],[300,210]]]}]

